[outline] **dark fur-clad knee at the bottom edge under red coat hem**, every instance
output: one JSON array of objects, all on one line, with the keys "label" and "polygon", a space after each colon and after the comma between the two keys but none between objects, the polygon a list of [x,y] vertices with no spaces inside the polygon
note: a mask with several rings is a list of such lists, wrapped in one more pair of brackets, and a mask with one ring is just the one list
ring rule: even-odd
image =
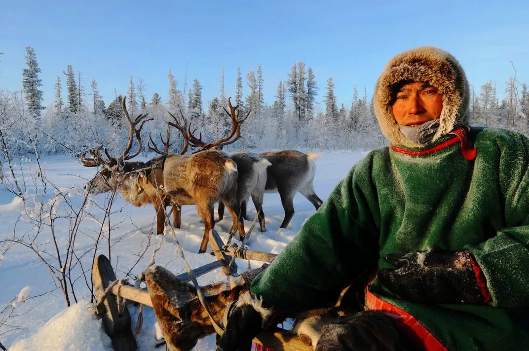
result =
[{"label": "dark fur-clad knee at the bottom edge under red coat hem", "polygon": [[376,311],[339,317],[322,328],[316,351],[412,350],[393,318]]}]

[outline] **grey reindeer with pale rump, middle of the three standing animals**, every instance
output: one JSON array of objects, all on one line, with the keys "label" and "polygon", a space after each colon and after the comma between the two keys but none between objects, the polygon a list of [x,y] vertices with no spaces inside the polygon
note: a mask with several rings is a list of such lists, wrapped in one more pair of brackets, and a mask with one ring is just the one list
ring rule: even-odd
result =
[{"label": "grey reindeer with pale rump, middle of the three standing animals", "polygon": [[[237,180],[237,201],[241,208],[240,220],[247,218],[246,210],[248,198],[251,196],[253,205],[256,207],[261,232],[265,232],[265,214],[263,213],[262,203],[267,182],[267,167],[271,163],[267,159],[261,159],[257,154],[238,150],[228,154],[237,164],[239,178]],[[224,204],[218,203],[218,220],[224,217]]]}]

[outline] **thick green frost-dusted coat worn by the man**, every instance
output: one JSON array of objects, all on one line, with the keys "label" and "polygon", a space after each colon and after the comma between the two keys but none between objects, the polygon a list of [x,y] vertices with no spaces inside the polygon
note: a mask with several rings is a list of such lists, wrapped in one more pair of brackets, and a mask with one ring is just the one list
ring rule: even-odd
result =
[{"label": "thick green frost-dusted coat worn by the man", "polygon": [[473,128],[468,138],[475,160],[459,142],[423,156],[390,147],[369,153],[251,291],[279,310],[310,309],[366,271],[390,267],[389,253],[470,250],[487,280],[487,305],[407,302],[376,279],[369,291],[448,349],[528,348],[529,139],[491,128]]}]

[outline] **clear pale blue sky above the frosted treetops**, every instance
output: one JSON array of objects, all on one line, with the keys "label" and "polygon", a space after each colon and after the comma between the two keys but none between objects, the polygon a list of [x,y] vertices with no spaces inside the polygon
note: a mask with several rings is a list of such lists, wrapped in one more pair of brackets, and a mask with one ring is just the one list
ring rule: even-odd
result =
[{"label": "clear pale blue sky above the frosted treetops", "polygon": [[[451,52],[477,89],[489,79],[503,93],[514,71],[529,82],[529,2],[497,1],[4,1],[0,5],[0,88],[20,90],[26,45],[42,69],[44,106],[53,101],[57,75],[71,64],[89,89],[95,78],[106,104],[124,93],[130,75],[167,98],[167,71],[178,88],[197,78],[203,99],[225,89],[234,96],[262,66],[265,101],[279,80],[304,61],[320,87],[333,77],[339,103],[350,105],[353,85],[371,96],[384,64],[396,53],[434,45]],[[464,3],[464,4],[458,4]],[[248,89],[245,89],[245,95]]]}]

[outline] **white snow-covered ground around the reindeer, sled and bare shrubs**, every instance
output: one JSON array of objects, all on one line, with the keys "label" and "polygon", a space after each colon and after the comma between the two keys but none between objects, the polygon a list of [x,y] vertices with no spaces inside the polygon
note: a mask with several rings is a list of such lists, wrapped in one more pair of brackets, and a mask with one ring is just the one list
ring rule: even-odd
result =
[{"label": "white snow-covered ground around the reindeer, sled and bare shrubs", "polygon": [[[316,160],[316,176],[314,186],[317,195],[325,200],[352,165],[363,157],[364,152],[323,152]],[[82,186],[85,179],[92,178],[95,173],[93,168],[82,167],[77,160],[62,156],[52,156],[41,160],[45,165],[47,179],[54,183],[58,189],[66,191],[67,199],[74,206],[80,206],[83,201]],[[25,177],[28,193],[26,194],[26,208],[30,207],[33,195],[36,192],[31,177],[35,176],[35,163],[23,160],[22,174]],[[7,169],[4,170],[8,172]],[[52,197],[53,189],[48,184],[47,195],[43,196],[42,187],[37,191],[39,201],[48,201]],[[103,218],[103,210],[97,205],[105,204],[105,195],[93,197],[95,204],[89,203],[87,210],[95,218]],[[64,202],[64,201],[63,201]],[[64,206],[62,203],[60,206]],[[59,212],[60,207],[59,206]],[[279,253],[289,243],[305,219],[314,213],[314,207],[303,196],[297,194],[294,199],[296,214],[287,229],[279,229],[284,217],[279,195],[271,193],[265,195],[263,209],[266,215],[267,232],[255,230],[248,242],[252,250]],[[132,277],[138,275],[149,263],[151,254],[162,241],[162,236],[152,235],[151,228],[155,223],[154,208],[136,208],[125,204],[118,196],[112,207],[111,216],[111,262],[118,278],[123,278],[129,271]],[[249,214],[256,214],[253,205],[249,205]],[[224,241],[230,229],[232,218],[224,218],[216,224]],[[245,222],[248,229],[251,222]],[[259,226],[257,226],[259,227]],[[111,349],[110,339],[102,329],[101,322],[93,316],[90,310],[89,267],[94,255],[94,244],[100,225],[94,218],[86,216],[79,226],[75,242],[75,253],[83,264],[88,284],[85,281],[79,264],[72,270],[76,299],[79,303],[65,309],[65,299],[60,289],[56,289],[50,271],[37,254],[28,248],[15,244],[5,252],[6,246],[0,246],[0,343],[13,350],[96,350]],[[105,227],[107,228],[107,227]],[[257,229],[257,228],[256,228]],[[0,239],[25,235],[31,238],[37,233],[34,223],[27,221],[24,204],[0,185]],[[202,239],[203,225],[196,213],[194,206],[184,206],[182,209],[182,225],[176,229],[178,240],[184,248],[185,256],[191,267],[198,267],[215,260],[209,254],[197,254],[198,246]],[[66,252],[68,245],[69,222],[64,219],[57,220],[55,235],[58,238],[60,252]],[[39,243],[39,251],[44,258],[57,265],[53,258],[54,245],[50,241],[51,232],[44,228],[34,239]],[[156,255],[156,264],[167,267],[175,274],[185,271],[176,245],[170,237],[163,239],[161,250]],[[143,256],[141,256],[141,254]],[[107,238],[99,243],[97,254],[108,255]],[[141,256],[141,258],[140,258]],[[56,257],[56,255],[55,255]],[[140,258],[140,259],[139,259]],[[260,263],[252,262],[252,266]],[[248,267],[247,262],[238,262],[239,270]],[[131,270],[132,269],[132,270]],[[221,270],[201,276],[200,285],[205,285],[223,280]],[[75,301],[72,301],[75,302]],[[3,311],[3,313],[1,313]],[[11,316],[5,320],[11,312]],[[133,327],[138,316],[136,308],[130,308]],[[140,350],[152,350],[159,342],[156,340],[154,328],[154,313],[151,308],[144,309],[144,322],[141,333],[136,336]],[[199,340],[195,350],[213,350],[214,337],[210,336]]]}]

